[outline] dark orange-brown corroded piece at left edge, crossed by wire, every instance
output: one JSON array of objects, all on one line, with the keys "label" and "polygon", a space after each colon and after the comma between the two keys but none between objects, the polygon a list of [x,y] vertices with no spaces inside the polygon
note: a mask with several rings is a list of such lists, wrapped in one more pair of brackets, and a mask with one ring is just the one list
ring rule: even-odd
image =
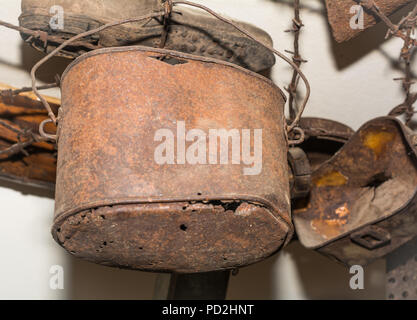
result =
[{"label": "dark orange-brown corroded piece at left edge, crossed by wire", "polygon": [[[13,88],[1,85],[0,90]],[[53,110],[59,107],[59,100],[46,97]],[[0,120],[20,131],[37,133],[39,124],[48,118],[42,104],[32,94],[0,94]],[[52,130],[53,128],[47,128]],[[0,150],[5,150],[19,141],[17,132],[0,125]],[[24,141],[24,139],[23,139]],[[38,142],[25,148],[27,154],[0,155],[0,179],[24,185],[54,189],[56,177],[55,147],[52,143]]]}]

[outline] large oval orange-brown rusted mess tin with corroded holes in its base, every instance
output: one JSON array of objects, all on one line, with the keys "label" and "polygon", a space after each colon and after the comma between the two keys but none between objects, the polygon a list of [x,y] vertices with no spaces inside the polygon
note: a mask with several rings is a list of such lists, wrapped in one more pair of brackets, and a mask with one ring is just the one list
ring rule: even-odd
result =
[{"label": "large oval orange-brown rusted mess tin with corroded holes in its base", "polygon": [[[290,241],[285,97],[270,80],[226,62],[124,47],[75,60],[61,90],[52,233],[74,256],[193,273],[249,265]],[[235,129],[239,154],[243,130],[254,154],[262,129],[261,171],[244,174],[248,166],[235,158],[190,163],[178,152],[195,141],[182,144],[180,126]],[[175,161],[160,164],[156,150],[169,132]],[[207,147],[206,160],[221,145]]]}]

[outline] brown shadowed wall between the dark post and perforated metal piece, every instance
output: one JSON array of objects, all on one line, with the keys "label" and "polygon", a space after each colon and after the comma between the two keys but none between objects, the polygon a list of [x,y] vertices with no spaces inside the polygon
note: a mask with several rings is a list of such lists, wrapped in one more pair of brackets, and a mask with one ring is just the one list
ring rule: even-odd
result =
[{"label": "brown shadowed wall between the dark post and perforated metal piece", "polygon": [[[365,289],[352,290],[348,268],[293,241],[278,255],[232,277],[228,299],[384,299],[385,260],[364,269]],[[293,283],[299,288],[289,287],[286,278],[299,279]],[[300,292],[303,297],[298,297]]]}]

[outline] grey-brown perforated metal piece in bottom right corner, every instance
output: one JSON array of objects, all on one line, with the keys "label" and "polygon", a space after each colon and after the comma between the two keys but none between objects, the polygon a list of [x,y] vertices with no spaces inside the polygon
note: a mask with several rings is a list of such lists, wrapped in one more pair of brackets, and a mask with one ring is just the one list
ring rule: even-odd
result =
[{"label": "grey-brown perforated metal piece in bottom right corner", "polygon": [[387,256],[387,299],[417,300],[417,238]]}]

